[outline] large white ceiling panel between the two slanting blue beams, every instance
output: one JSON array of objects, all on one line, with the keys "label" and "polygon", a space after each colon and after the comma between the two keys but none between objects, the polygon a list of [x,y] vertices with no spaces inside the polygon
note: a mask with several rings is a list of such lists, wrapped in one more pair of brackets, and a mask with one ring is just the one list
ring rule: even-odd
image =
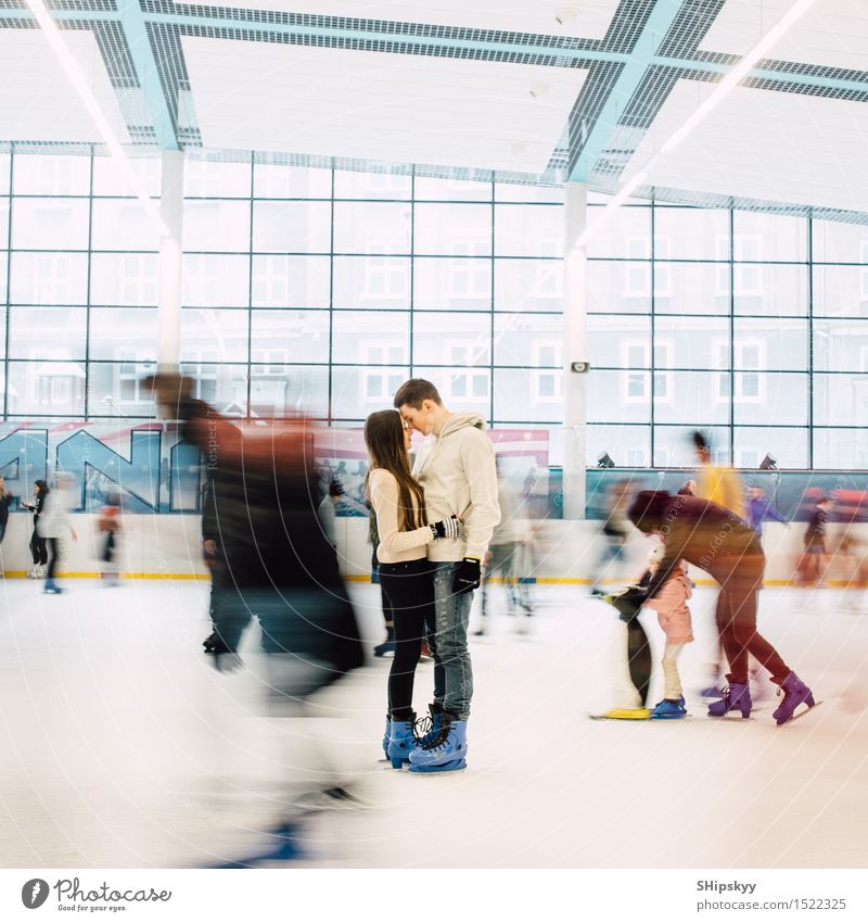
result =
[{"label": "large white ceiling panel between the two slanting blue beams", "polygon": [[586,76],[529,64],[182,41],[209,148],[541,173]]}]

